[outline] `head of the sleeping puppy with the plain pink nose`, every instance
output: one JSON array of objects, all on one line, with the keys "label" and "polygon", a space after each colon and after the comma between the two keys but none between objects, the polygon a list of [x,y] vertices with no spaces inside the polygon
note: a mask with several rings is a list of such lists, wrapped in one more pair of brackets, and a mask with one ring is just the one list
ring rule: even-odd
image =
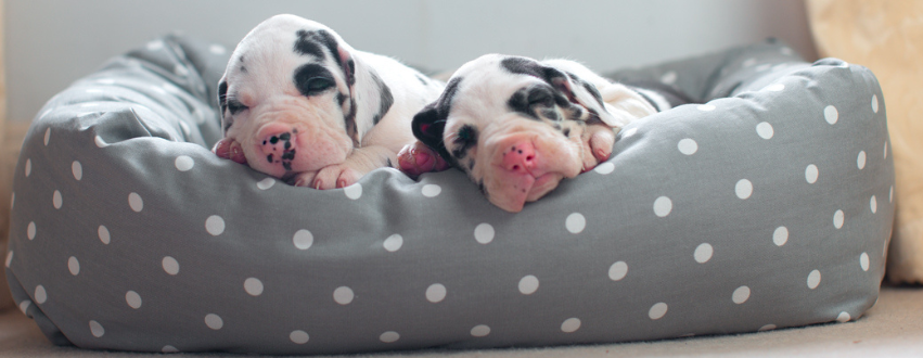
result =
[{"label": "head of the sleeping puppy with the plain pink nose", "polygon": [[585,131],[608,117],[595,88],[575,75],[492,54],[459,68],[413,131],[515,213],[585,169]]}]

